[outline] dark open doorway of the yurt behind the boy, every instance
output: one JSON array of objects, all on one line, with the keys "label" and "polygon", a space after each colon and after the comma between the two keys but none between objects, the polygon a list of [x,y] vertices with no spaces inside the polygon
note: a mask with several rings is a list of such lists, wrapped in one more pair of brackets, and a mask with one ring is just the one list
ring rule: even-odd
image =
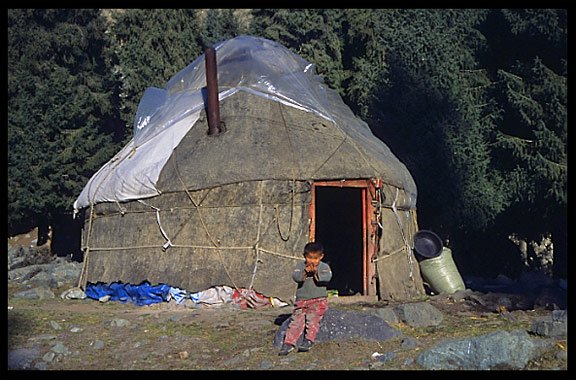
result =
[{"label": "dark open doorway of the yurt behind the boy", "polygon": [[328,289],[339,295],[363,294],[364,240],[362,189],[315,188],[315,236],[324,245],[324,260],[332,268]]}]

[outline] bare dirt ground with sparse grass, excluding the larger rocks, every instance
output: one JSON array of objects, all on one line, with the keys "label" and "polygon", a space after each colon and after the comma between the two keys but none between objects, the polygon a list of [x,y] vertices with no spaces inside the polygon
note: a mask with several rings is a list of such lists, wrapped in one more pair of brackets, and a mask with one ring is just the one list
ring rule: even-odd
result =
[{"label": "bare dirt ground with sparse grass, excluding the larger rocks", "polygon": [[[17,290],[9,284],[9,295]],[[329,307],[368,312],[391,306],[383,301],[336,301],[331,300]],[[440,297],[417,301],[432,303],[444,315],[435,327],[392,325],[404,338],[415,338],[418,347],[404,348],[403,338],[383,343],[327,342],[316,344],[307,353],[280,357],[273,339],[292,312],[291,306],[242,310],[232,304],[186,308],[167,302],[135,306],[91,299],[9,297],[8,351],[36,349],[39,355],[32,369],[41,363],[40,367],[48,370],[420,370],[416,357],[435,342],[496,330],[529,329],[532,318],[550,313],[544,309],[486,312]],[[60,353],[50,354],[56,346]],[[565,370],[562,351],[567,352],[567,340],[556,341],[553,351],[527,369]],[[374,358],[390,352],[395,357],[388,361]]]}]

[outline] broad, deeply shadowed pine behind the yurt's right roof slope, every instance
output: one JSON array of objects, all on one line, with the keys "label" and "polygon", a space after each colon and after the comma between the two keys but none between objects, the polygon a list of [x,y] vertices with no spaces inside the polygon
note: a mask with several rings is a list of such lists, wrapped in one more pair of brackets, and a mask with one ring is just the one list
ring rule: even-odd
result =
[{"label": "broad, deeply shadowed pine behind the yurt's right roof slope", "polygon": [[475,59],[482,39],[474,25],[485,12],[359,10],[355,16],[360,22],[350,28],[366,47],[357,58],[365,69],[349,88],[358,87],[355,99],[376,134],[411,170],[422,224],[441,231],[485,228],[508,202],[491,166],[496,111],[483,90],[489,79]]}]

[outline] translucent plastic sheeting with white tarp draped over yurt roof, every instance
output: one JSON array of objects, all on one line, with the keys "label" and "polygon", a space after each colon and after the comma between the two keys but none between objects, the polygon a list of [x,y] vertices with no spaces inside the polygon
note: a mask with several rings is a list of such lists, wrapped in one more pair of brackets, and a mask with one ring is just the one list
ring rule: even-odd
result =
[{"label": "translucent plastic sheeting with white tarp draped over yurt roof", "polygon": [[[401,173],[415,206],[416,186],[407,169],[338,93],[322,83],[314,74],[313,64],[262,38],[240,36],[214,48],[220,100],[246,91],[334,122],[377,159]],[[156,183],[160,172],[205,107],[205,87],[202,55],[168,81],[164,89],[148,88],[136,112],[134,138],[92,176],[74,208],[159,195]]]}]

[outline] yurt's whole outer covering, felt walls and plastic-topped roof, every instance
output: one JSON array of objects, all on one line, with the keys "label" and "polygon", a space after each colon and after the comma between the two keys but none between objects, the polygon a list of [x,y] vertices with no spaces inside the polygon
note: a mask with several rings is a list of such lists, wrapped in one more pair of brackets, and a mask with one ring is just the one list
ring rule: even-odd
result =
[{"label": "yurt's whole outer covering, felt walls and plastic-topped roof", "polygon": [[314,240],[315,184],[367,180],[370,281],[380,298],[422,295],[408,169],[313,64],[261,38],[214,48],[222,132],[208,135],[204,56],[146,90],[133,139],[74,203],[84,218],[80,285],[228,285],[289,300],[293,267]]}]

